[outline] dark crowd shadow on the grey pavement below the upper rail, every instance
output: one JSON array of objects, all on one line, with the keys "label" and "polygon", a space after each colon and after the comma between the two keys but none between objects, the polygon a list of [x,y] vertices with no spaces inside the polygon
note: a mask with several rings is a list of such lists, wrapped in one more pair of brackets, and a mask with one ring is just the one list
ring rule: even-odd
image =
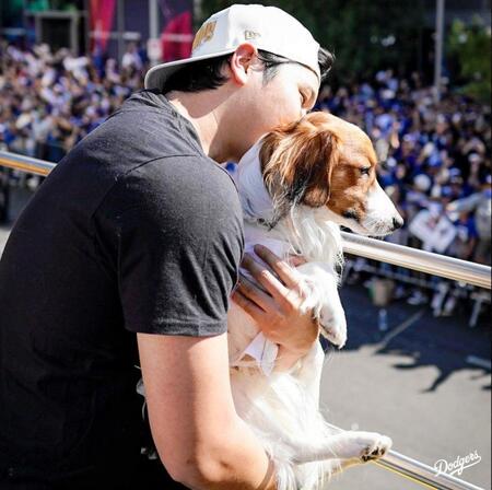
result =
[{"label": "dark crowd shadow on the grey pavement below the upper rail", "polygon": [[[437,377],[423,393],[436,390],[460,370],[477,371],[473,378],[483,377],[487,384],[482,389],[491,389],[491,331],[487,313],[475,328],[469,328],[469,312],[464,310],[449,317],[435,318],[429,305],[411,306],[395,301],[386,307],[387,330],[379,331],[378,307],[373,305],[364,287],[343,285],[341,298],[349,325],[344,350],[372,346],[377,355],[410,358],[408,363],[393,365],[398,370],[437,368]],[[470,363],[469,357],[483,362]]]}]

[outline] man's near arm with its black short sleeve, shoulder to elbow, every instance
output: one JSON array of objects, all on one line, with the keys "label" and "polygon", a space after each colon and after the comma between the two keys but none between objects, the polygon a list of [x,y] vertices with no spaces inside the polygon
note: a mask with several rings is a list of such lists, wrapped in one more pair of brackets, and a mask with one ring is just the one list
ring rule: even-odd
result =
[{"label": "man's near arm with its black short sleeve, shoulder to elbow", "polygon": [[115,184],[95,222],[171,475],[196,489],[273,489],[231,394],[226,315],[243,234],[229,176],[196,158],[153,161]]}]

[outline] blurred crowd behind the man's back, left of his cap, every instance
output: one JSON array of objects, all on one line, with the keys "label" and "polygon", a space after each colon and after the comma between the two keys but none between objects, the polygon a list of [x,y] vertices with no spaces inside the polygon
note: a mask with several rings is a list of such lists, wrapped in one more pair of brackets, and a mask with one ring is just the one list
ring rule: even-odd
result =
[{"label": "blurred crowd behind the man's back, left of his cap", "polygon": [[121,67],[47,45],[0,43],[0,145],[59,162],[125,98],[143,88],[144,58],[132,44]]}]

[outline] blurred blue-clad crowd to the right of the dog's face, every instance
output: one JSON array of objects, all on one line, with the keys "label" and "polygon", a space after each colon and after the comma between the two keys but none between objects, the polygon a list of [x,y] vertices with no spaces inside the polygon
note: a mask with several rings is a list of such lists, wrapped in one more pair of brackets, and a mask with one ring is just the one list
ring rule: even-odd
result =
[{"label": "blurred blue-clad crowd to the right of the dog's face", "polygon": [[[380,162],[379,182],[406,221],[389,241],[490,265],[490,106],[446,86],[437,101],[419,74],[401,80],[384,70],[374,80],[336,92],[326,86],[317,108],[371,136]],[[353,273],[371,269],[365,262],[359,259]],[[409,284],[424,282],[407,275],[412,276]],[[469,296],[452,281],[434,279],[430,284],[431,294],[421,285],[400,284],[397,291],[411,304],[430,302],[436,315],[453,314],[458,299]]]}]

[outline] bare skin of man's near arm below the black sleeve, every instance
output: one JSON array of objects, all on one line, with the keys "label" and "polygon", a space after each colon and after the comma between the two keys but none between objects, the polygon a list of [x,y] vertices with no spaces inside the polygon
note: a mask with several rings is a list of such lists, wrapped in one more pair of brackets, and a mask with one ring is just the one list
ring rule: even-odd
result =
[{"label": "bare skin of man's near arm below the black sleeve", "polygon": [[273,466],[237,416],[226,334],[138,334],[152,435],[169,475],[192,489],[273,490]]}]

